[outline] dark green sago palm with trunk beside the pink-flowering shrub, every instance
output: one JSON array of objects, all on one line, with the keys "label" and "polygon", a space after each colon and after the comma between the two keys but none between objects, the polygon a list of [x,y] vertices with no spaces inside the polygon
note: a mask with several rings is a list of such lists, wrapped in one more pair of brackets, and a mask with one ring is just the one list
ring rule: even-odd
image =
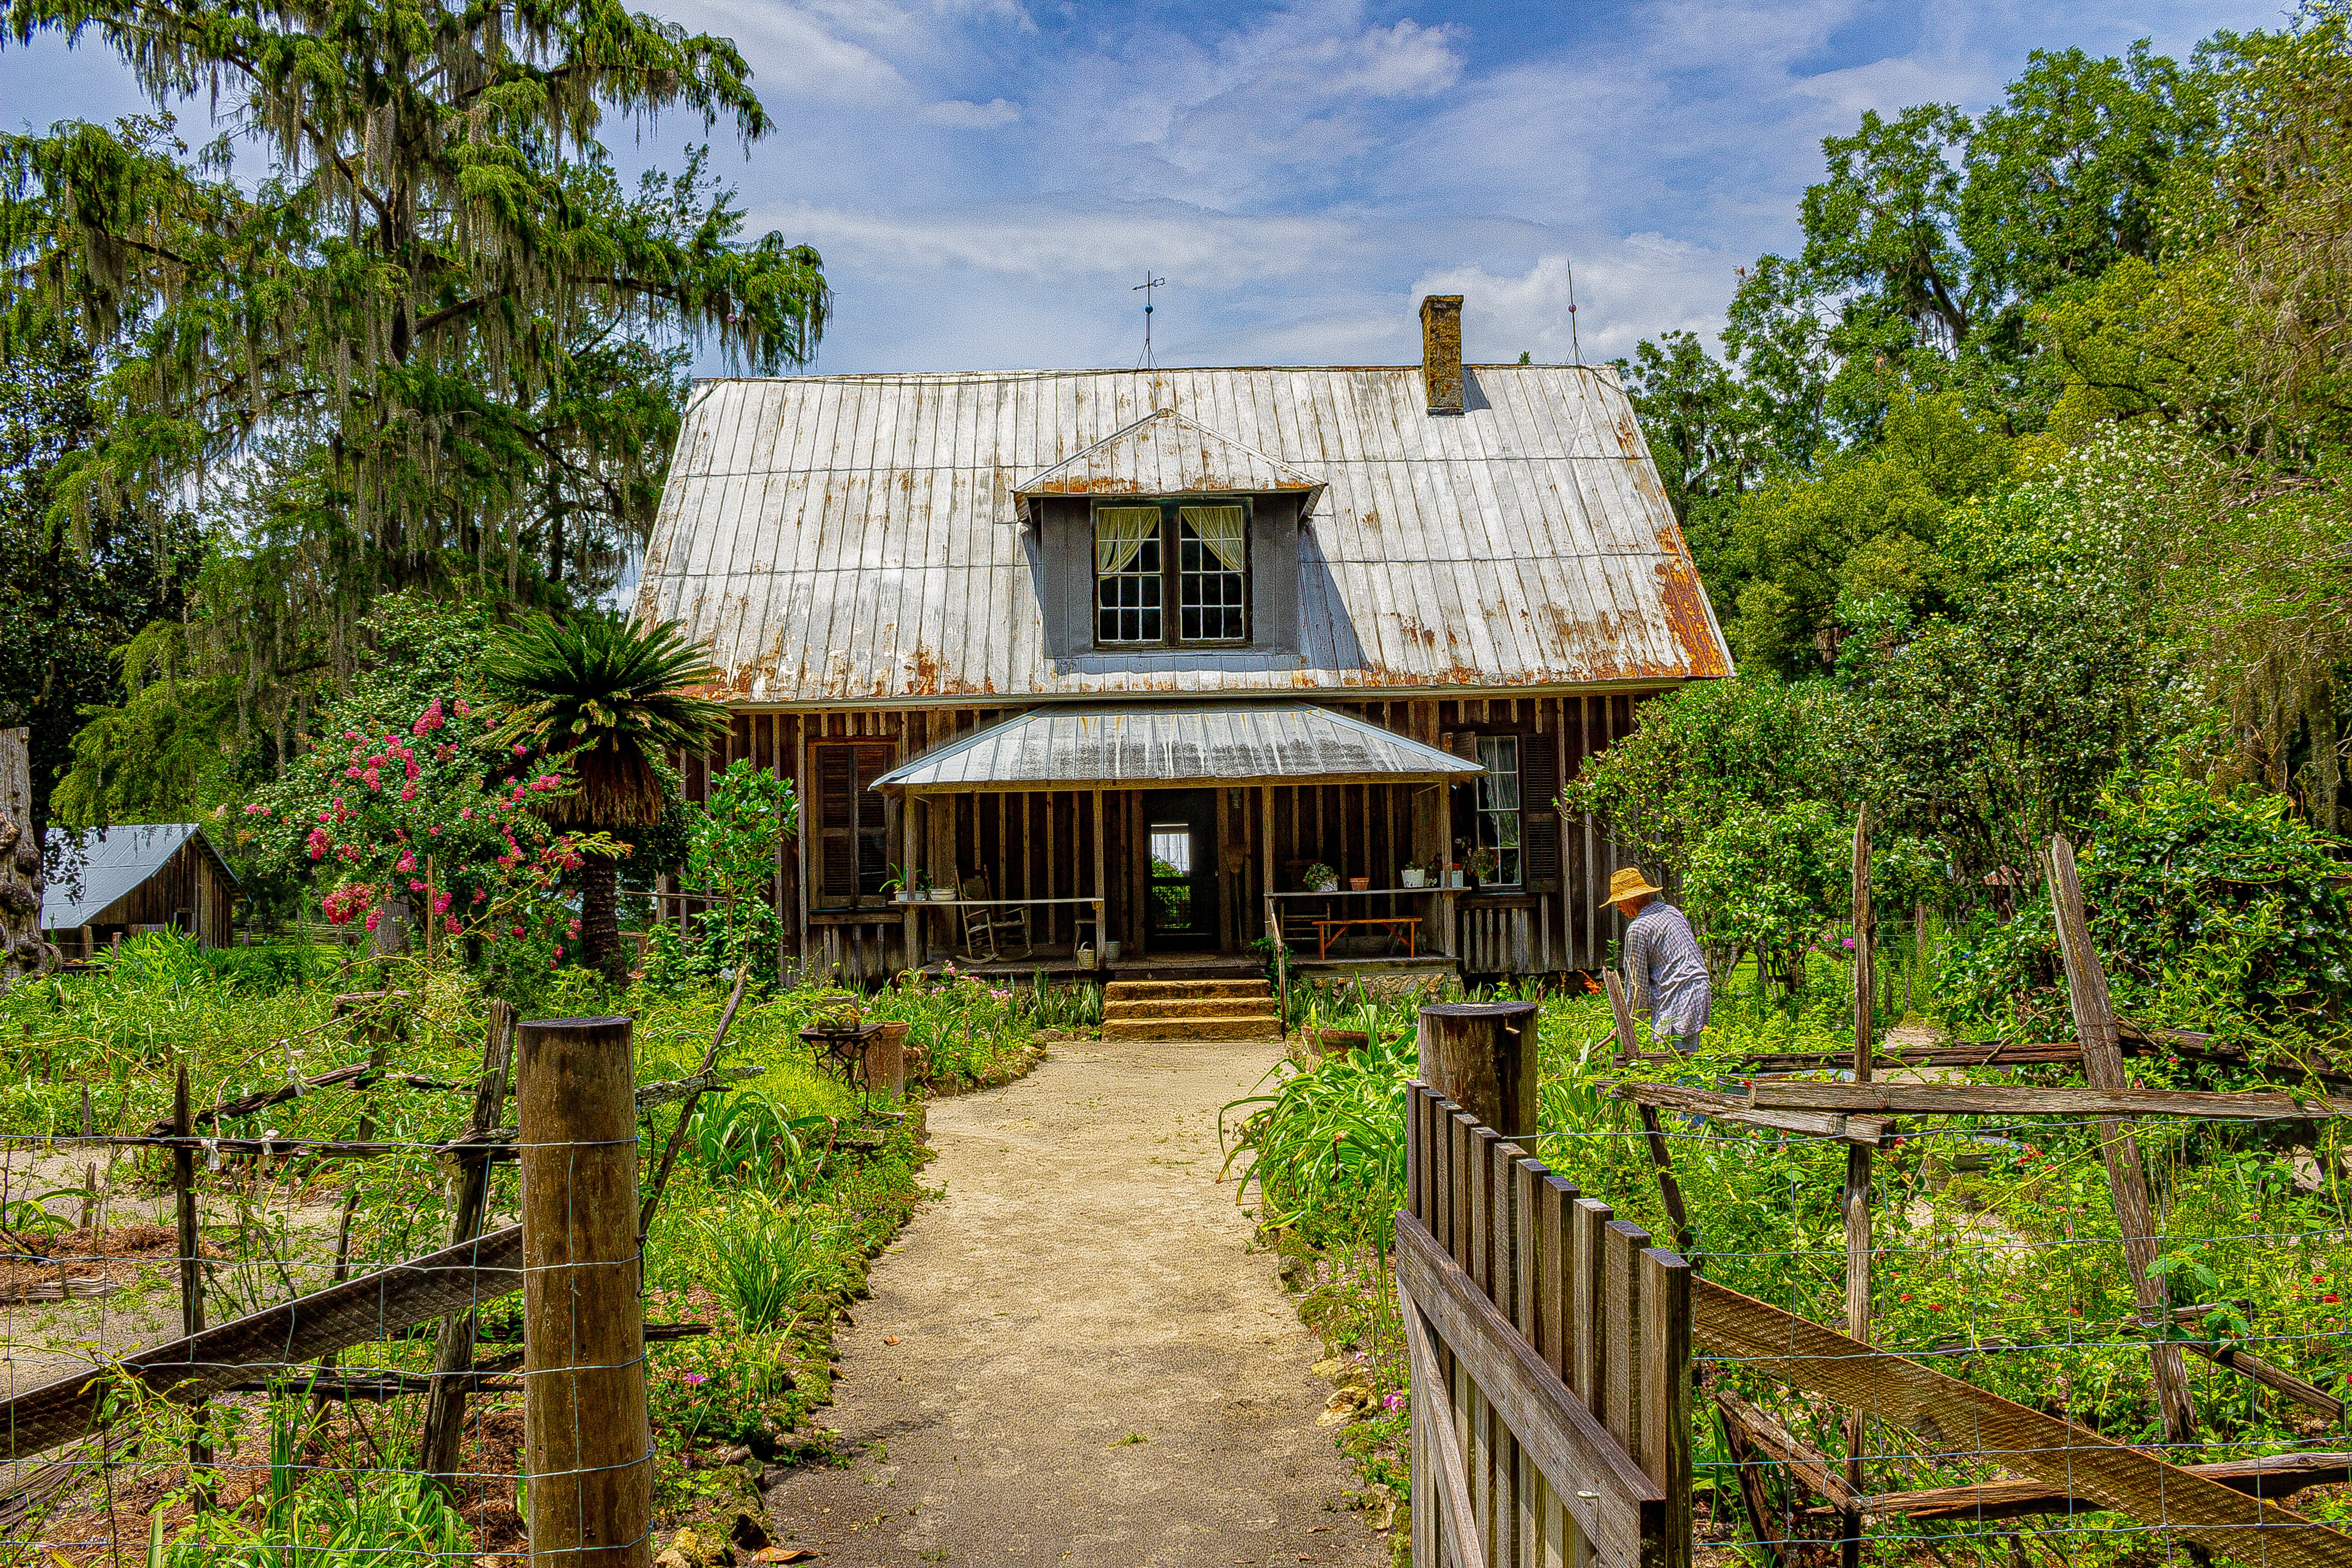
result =
[{"label": "dark green sago palm with trunk beside the pink-flowering shrub", "polygon": [[[569,621],[534,616],[506,630],[489,677],[513,693],[515,733],[572,764],[576,788],[550,802],[562,827],[614,832],[661,823],[663,752],[706,750],[727,731],[720,703],[689,696],[715,679],[710,661],[670,621],[637,625],[614,614]],[[581,867],[581,950],[614,983],[621,959],[619,865],[588,856]]]}]

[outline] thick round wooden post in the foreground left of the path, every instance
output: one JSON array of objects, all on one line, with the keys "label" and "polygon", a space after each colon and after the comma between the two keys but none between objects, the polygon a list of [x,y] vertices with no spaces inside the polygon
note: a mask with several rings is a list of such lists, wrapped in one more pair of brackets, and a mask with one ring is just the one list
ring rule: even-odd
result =
[{"label": "thick round wooden post in the foreground left of the path", "polygon": [[532,1563],[652,1563],[628,1018],[522,1025],[522,1432]]}]

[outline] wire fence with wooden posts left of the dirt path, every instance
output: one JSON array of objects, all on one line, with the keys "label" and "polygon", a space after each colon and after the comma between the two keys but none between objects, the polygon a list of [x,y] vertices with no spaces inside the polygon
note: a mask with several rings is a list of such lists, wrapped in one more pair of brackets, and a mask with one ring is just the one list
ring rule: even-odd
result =
[{"label": "wire fence with wooden posts left of the dirt path", "polygon": [[649,1540],[647,1345],[710,1324],[644,1321],[644,1239],[701,1095],[762,1072],[717,1067],[734,1004],[654,1084],[630,1020],[503,1004],[475,1081],[395,1072],[400,1011],[339,999],[365,1056],[327,1072],[191,1105],[181,1070],[160,1121],[85,1093],[80,1128],[0,1138],[0,1563]]}]

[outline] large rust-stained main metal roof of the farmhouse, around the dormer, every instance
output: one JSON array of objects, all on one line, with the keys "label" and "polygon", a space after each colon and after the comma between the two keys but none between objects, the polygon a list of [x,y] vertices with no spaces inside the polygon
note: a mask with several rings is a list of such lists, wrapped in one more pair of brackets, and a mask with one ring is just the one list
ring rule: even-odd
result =
[{"label": "large rust-stained main metal roof of the farmhouse, around the dormer", "polygon": [[[1729,675],[1602,367],[788,376],[696,386],[637,614],[753,705],[1529,686]],[[1301,656],[1054,658],[1016,489],[1174,409],[1324,482]],[[1157,440],[1157,437],[1155,437]]]}]

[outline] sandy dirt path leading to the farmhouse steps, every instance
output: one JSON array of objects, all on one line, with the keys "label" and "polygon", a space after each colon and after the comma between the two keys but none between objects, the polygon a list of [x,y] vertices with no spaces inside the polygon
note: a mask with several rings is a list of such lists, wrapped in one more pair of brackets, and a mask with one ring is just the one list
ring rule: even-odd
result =
[{"label": "sandy dirt path leading to the farmhouse steps", "polygon": [[[1348,1512],[1319,1354],[1216,1185],[1216,1112],[1279,1046],[1063,1046],[931,1107],[946,1187],[873,1272],[828,1425],[771,1488],[826,1563],[1388,1561]],[[1141,1441],[1138,1441],[1141,1439]]]}]

